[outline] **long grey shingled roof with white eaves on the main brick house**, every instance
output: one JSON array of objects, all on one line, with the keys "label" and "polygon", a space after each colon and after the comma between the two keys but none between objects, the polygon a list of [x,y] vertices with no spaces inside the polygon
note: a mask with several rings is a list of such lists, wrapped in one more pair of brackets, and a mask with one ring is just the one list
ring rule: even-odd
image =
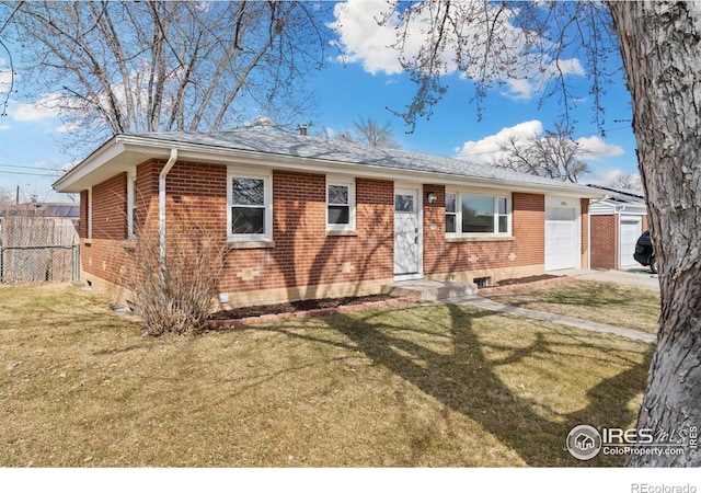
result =
[{"label": "long grey shingled roof with white eaves on the main brick house", "polygon": [[464,183],[471,180],[482,183],[495,182],[499,186],[544,188],[582,197],[602,195],[597,195],[585,185],[478,164],[457,158],[260,129],[119,134],[58,180],[54,187],[58,192],[80,192],[88,183],[96,184],[100,183],[96,180],[108,177],[105,164],[114,174],[142,162],[148,156],[166,159],[171,149],[179,150],[179,159],[205,159],[208,162],[226,163],[230,162],[228,159],[234,157],[251,160],[265,158],[291,169],[297,164],[304,164],[310,170],[314,167],[317,169],[325,167],[338,172],[344,169],[350,172],[348,169],[353,168],[358,175],[365,172],[371,173],[372,176],[384,176],[387,180],[409,179],[421,174],[421,180],[425,183],[432,181]]}]

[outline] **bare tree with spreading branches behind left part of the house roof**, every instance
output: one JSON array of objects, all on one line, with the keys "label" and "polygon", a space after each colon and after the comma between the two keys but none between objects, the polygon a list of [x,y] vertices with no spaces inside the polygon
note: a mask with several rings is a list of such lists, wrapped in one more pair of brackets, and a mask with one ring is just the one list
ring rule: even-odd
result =
[{"label": "bare tree with spreading branches behind left part of the house roof", "polygon": [[37,1],[16,10],[14,25],[31,41],[25,80],[60,93],[79,139],[301,116],[308,95],[290,81],[323,65],[323,19],[287,1]]}]

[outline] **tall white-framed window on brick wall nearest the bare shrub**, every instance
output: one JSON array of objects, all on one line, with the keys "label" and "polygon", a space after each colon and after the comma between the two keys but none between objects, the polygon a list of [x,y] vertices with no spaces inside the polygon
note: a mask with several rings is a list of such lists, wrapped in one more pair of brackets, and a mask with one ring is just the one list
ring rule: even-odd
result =
[{"label": "tall white-framed window on brick wall nearest the bare shrub", "polygon": [[231,241],[273,239],[273,179],[234,168],[228,171],[227,221]]}]

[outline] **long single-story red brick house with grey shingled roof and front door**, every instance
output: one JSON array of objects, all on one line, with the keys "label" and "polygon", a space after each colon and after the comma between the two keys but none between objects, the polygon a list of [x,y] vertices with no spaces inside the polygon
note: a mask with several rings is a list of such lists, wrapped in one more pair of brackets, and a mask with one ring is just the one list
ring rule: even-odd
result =
[{"label": "long single-story red brick house with grey shingled roof and front door", "polygon": [[80,194],[91,286],[128,296],[135,232],[187,217],[228,245],[219,290],[232,306],[587,267],[588,204],[605,196],[457,159],[251,129],[117,135],[54,187]]}]

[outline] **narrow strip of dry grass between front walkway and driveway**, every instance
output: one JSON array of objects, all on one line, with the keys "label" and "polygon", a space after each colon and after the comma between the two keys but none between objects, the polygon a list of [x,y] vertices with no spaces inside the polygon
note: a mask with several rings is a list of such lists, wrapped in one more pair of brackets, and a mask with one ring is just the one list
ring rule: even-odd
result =
[{"label": "narrow strip of dry grass between front walkway and driveway", "polygon": [[559,280],[485,295],[495,301],[531,310],[577,317],[609,325],[657,333],[659,291],[597,280]]}]

